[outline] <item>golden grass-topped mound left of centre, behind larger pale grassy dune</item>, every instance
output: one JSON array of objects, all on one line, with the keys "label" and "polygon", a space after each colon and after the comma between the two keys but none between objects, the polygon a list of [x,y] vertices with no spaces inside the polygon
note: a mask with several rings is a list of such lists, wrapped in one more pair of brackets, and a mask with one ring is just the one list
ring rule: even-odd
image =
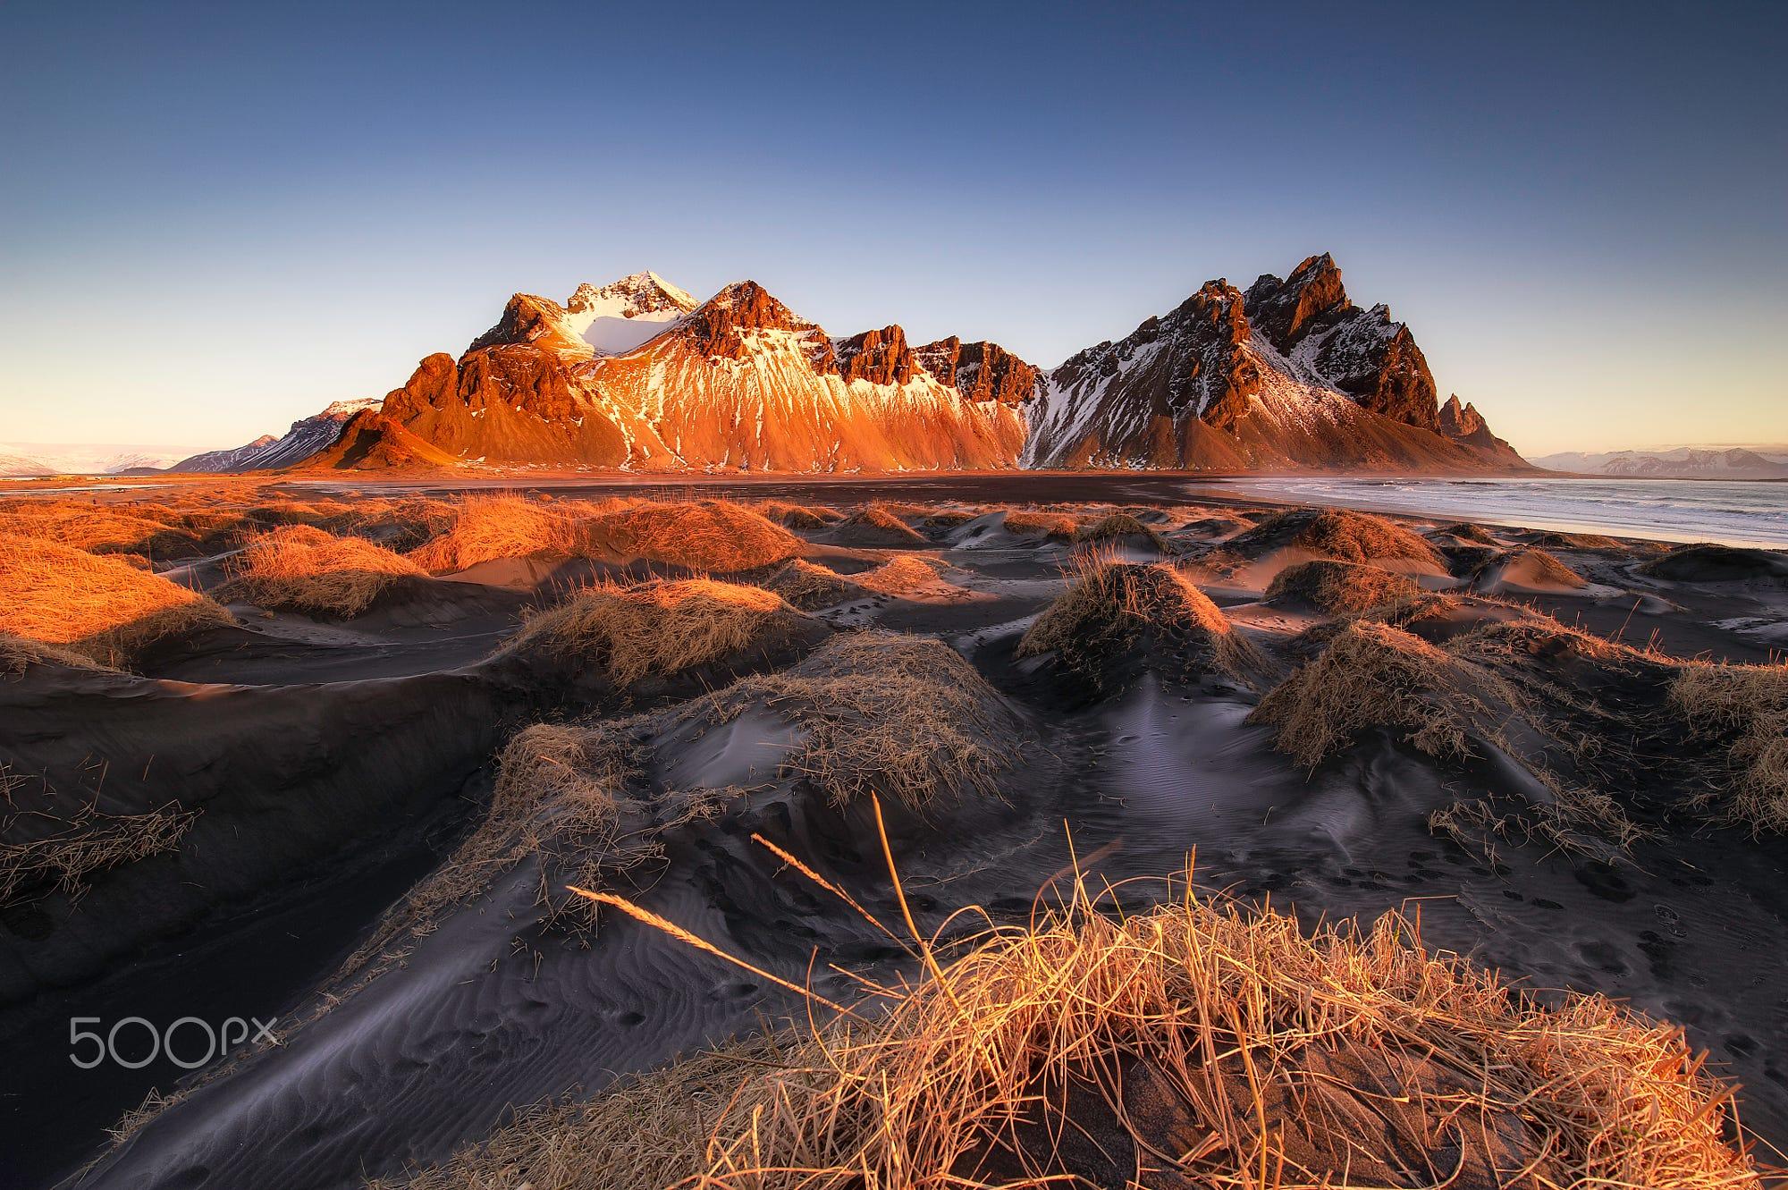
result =
[{"label": "golden grass-topped mound left of centre, behind larger pale grassy dune", "polygon": [[719,661],[805,616],[776,591],[715,579],[595,584],[533,615],[508,649],[579,658],[617,684]]}]

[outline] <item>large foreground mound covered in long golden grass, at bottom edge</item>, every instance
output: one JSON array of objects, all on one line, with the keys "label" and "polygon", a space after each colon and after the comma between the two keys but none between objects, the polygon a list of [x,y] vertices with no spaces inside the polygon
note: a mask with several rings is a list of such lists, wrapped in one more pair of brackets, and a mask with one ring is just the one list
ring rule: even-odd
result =
[{"label": "large foreground mound covered in long golden grass, at bottom edge", "polygon": [[413,1190],[1758,1186],[1683,1031],[1550,1006],[1387,913],[1185,892],[983,934],[855,1018],[524,1115]]}]

